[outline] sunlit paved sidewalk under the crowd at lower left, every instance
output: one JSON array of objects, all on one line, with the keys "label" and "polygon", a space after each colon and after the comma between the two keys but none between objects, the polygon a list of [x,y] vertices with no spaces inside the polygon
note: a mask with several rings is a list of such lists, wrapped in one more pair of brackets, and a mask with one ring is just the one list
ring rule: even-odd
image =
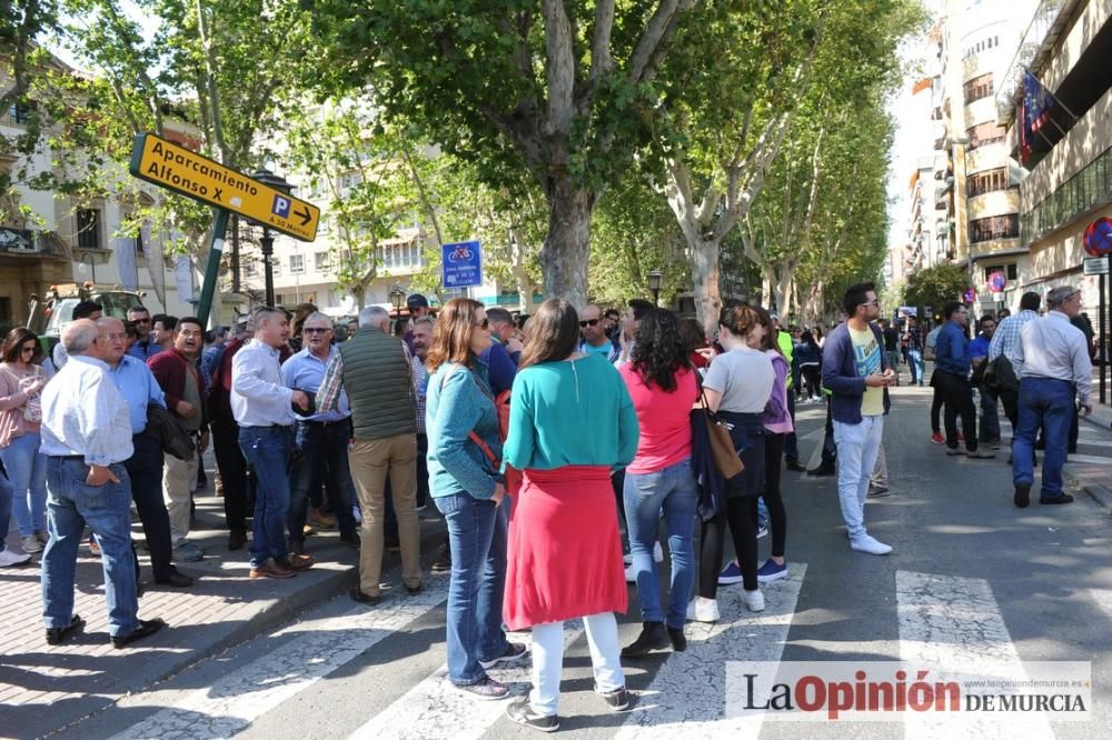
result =
[{"label": "sunlit paved sidewalk under the crowd at lower left", "polygon": [[[79,551],[75,606],[86,628],[61,646],[46,642],[41,556],[34,556],[28,566],[0,570],[0,623],[4,626],[0,637],[0,736],[42,737],[358,583],[358,551],[340,544],[335,530],[318,531],[306,541],[317,560],[312,569],[287,580],[251,580],[248,550],[228,550],[222,499],[211,494],[210,486],[196,501],[198,527],[189,539],[206,551],[206,557],[179,563],[178,569],[197,582],[188,589],[156,584],[150,561],[140,549],[143,596],[139,616],[159,617],[169,627],[132,648],[115,650],[109,641],[103,571],[87,544]],[[138,521],[132,531],[142,542]],[[423,521],[423,551],[435,550],[443,541],[443,531],[439,520]],[[18,549],[18,539],[11,533],[9,547]],[[400,589],[400,581],[394,582],[397,573],[389,571],[399,562],[397,552],[387,552],[383,561],[383,580],[395,590]],[[390,598],[390,592],[384,590],[384,597]]]}]

